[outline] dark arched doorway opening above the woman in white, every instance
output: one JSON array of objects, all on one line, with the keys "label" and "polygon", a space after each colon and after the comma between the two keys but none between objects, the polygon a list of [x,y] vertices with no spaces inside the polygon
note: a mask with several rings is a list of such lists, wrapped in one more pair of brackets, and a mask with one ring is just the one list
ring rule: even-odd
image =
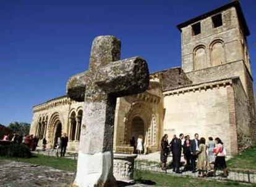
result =
[{"label": "dark arched doorway opening above the woman in white", "polygon": [[134,137],[136,145],[137,145],[137,139],[139,138],[139,135],[142,135],[143,141],[145,141],[144,122],[141,117],[135,116],[134,119],[132,119],[132,127],[130,128],[130,131],[131,131],[130,139]]}]

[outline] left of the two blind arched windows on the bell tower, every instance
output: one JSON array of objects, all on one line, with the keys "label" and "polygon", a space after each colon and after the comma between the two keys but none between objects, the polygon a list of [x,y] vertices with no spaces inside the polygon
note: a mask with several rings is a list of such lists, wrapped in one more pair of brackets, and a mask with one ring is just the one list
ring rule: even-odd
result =
[{"label": "left of the two blind arched windows on the bell tower", "polygon": [[198,46],[194,50],[194,70],[207,68],[207,54],[204,46]]}]

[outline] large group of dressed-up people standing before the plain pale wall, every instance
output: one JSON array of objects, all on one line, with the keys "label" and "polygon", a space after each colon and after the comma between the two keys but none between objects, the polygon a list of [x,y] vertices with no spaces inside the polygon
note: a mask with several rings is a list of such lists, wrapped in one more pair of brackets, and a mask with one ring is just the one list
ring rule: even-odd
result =
[{"label": "large group of dressed-up people standing before the plain pale wall", "polygon": [[[205,138],[198,139],[198,133],[195,133],[194,139],[190,140],[189,135],[184,139],[184,134],[181,133],[179,138],[174,135],[170,143],[168,143],[168,135],[165,134],[161,139],[161,168],[167,169],[167,158],[169,153],[173,154],[173,172],[182,173],[182,171],[191,170],[193,173],[198,170],[198,177],[215,176],[217,169],[223,169],[222,177],[228,177],[226,167],[226,149],[220,138],[208,138],[206,143]],[[184,155],[186,165],[184,170],[181,167],[181,155]],[[211,175],[210,175],[211,173]]]}]

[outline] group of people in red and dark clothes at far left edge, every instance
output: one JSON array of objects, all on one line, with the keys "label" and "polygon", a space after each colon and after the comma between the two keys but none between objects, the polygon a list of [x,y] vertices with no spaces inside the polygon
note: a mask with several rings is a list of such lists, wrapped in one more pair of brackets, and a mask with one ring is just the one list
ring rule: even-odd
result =
[{"label": "group of people in red and dark clothes at far left edge", "polygon": [[31,151],[35,151],[38,145],[38,137],[34,135],[22,136],[17,133],[4,135],[4,138],[2,138],[2,141],[11,141],[12,143],[17,143],[17,144],[22,143],[23,145],[27,145]]}]

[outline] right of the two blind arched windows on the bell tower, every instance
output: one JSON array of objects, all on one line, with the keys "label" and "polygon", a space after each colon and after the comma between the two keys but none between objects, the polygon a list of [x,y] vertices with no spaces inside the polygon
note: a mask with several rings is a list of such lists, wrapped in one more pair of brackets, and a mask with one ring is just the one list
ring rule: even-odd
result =
[{"label": "right of the two blind arched windows on the bell tower", "polygon": [[224,47],[222,41],[215,41],[211,45],[211,65],[218,66],[225,61]]}]

